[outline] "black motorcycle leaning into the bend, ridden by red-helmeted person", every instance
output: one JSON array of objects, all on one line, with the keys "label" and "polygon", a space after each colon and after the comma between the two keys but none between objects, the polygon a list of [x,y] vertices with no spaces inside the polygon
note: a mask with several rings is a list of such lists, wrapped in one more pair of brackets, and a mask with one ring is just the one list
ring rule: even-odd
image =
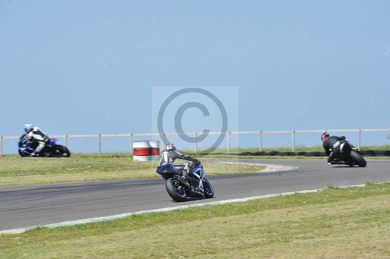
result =
[{"label": "black motorcycle leaning into the bend, ridden by red-helmeted person", "polygon": [[338,146],[340,146],[340,153],[338,158],[334,161],[336,164],[360,167],[365,167],[367,165],[367,162],[360,154],[359,149],[353,147],[348,140],[338,141],[333,145],[334,148],[337,148]]}]

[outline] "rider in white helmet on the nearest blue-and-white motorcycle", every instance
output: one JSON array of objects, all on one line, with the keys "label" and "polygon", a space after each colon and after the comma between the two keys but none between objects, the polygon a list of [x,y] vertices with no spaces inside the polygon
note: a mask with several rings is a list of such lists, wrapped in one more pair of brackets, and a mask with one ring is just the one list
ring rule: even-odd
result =
[{"label": "rider in white helmet on the nearest blue-and-white motorcycle", "polygon": [[[176,159],[183,159],[187,161],[194,162],[193,166],[197,166],[200,164],[200,161],[192,156],[188,155],[182,155],[178,151],[176,151],[176,147],[172,143],[168,143],[165,145],[165,149],[161,152],[161,158],[159,164],[164,163],[170,163],[173,164]],[[183,167],[183,173],[184,176],[187,177],[188,173],[190,172],[190,167],[188,166],[188,163],[179,163],[179,164],[173,164],[176,168],[177,167]]]}]

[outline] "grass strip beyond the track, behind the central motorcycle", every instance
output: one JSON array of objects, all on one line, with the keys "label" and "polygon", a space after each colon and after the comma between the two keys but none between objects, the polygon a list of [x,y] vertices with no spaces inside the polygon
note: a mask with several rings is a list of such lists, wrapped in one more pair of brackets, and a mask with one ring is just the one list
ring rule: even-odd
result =
[{"label": "grass strip beyond the track, behind the central motorcycle", "polygon": [[[179,162],[179,161],[178,161]],[[265,166],[203,161],[206,174],[261,171]],[[158,161],[133,162],[129,154],[75,154],[70,158],[0,157],[0,186],[160,177]]]}]

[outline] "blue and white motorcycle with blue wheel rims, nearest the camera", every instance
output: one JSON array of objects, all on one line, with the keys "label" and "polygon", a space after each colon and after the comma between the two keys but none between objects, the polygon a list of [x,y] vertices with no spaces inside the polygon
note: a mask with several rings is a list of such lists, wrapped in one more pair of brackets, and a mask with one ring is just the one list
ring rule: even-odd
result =
[{"label": "blue and white motorcycle with blue wheel rims, nearest the camera", "polygon": [[[190,169],[187,176],[183,170]],[[176,202],[184,202],[187,197],[213,198],[214,189],[204,178],[202,164],[194,166],[193,162],[182,164],[164,163],[157,166],[156,173],[165,180],[165,188]]]}]

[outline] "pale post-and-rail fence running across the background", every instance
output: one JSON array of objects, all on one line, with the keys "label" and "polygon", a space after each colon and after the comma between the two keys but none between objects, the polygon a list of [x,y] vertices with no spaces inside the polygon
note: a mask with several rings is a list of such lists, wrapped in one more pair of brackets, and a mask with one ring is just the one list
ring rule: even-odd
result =
[{"label": "pale post-and-rail fence running across the background", "polygon": [[[263,151],[263,139],[264,135],[267,134],[291,134],[291,148],[292,152],[295,152],[295,136],[297,133],[322,133],[322,132],[357,132],[358,133],[358,139],[357,139],[357,146],[360,148],[361,141],[362,141],[362,132],[380,132],[380,131],[387,131],[389,132],[390,136],[390,128],[389,129],[315,129],[315,130],[256,130],[256,131],[227,131],[227,132],[209,132],[210,135],[225,135],[227,137],[227,151],[230,152],[231,149],[231,137],[232,135],[240,135],[240,134],[254,134],[258,135],[258,148],[259,151]],[[192,135],[194,136],[194,153],[197,153],[197,136],[199,132],[175,132],[175,133],[123,133],[123,134],[60,134],[60,135],[51,135],[52,138],[63,138],[65,146],[68,146],[68,139],[69,138],[97,138],[97,152],[98,154],[101,153],[101,138],[108,138],[108,137],[127,137],[129,138],[129,151],[133,152],[133,137],[140,137],[140,136],[157,136],[162,140],[165,140],[165,136],[179,136],[182,134],[186,135]],[[7,139],[19,139],[19,136],[0,136],[0,156],[3,155],[3,141]],[[161,148],[163,148],[163,145],[165,145],[164,141],[160,142]]]}]

